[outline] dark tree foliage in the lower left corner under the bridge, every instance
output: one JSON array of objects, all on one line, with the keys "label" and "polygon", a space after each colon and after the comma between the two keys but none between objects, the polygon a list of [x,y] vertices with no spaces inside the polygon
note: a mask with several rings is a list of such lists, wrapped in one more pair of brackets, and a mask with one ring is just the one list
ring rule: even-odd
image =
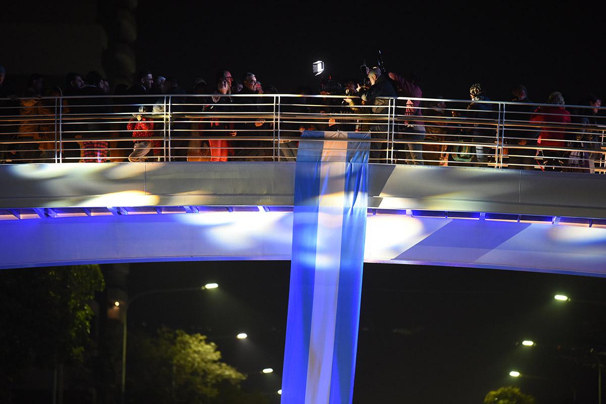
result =
[{"label": "dark tree foliage in the lower left corner under the bridge", "polygon": [[81,362],[90,301],[105,282],[98,265],[0,272],[0,374],[10,380],[31,365]]}]

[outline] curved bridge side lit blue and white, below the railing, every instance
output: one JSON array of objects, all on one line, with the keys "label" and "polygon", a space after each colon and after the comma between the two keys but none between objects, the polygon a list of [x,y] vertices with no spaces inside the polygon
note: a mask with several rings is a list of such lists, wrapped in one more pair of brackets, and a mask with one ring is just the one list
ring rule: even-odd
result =
[{"label": "curved bridge side lit blue and white, below the railing", "polygon": [[[0,267],[290,259],[294,163],[0,166]],[[370,165],[365,262],[606,276],[603,175]]]}]

